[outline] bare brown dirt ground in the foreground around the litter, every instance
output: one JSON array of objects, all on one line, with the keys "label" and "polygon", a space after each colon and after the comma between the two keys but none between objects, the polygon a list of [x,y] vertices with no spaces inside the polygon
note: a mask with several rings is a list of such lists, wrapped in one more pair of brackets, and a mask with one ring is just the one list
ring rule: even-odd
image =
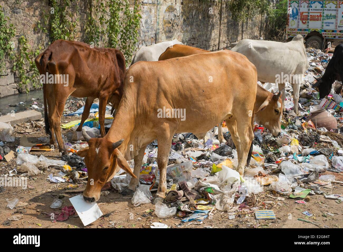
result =
[{"label": "bare brown dirt ground in the foreground around the litter", "polygon": [[[79,117],[62,118],[62,122],[78,120]],[[22,124],[23,125],[23,124]],[[44,128],[33,128],[31,133],[18,133],[15,128],[14,136],[16,141],[8,144],[11,150],[15,151],[19,145],[20,137],[24,134],[28,140],[33,143],[42,143],[38,137],[47,137]],[[37,131],[39,130],[39,131]],[[66,135],[67,130],[62,130]],[[53,152],[35,152],[37,156],[43,154],[47,158],[60,159],[58,150]],[[8,175],[8,172],[18,165],[15,158],[10,162],[0,161],[1,176]],[[71,206],[69,197],[79,193],[72,190],[66,190],[66,186],[71,183],[53,183],[47,180],[50,173],[57,175],[60,170],[48,168],[42,174],[28,179],[28,188],[23,190],[21,187],[0,188],[0,227],[3,228],[84,228],[77,214],[71,216],[66,221],[52,221],[48,213],[54,210],[60,210],[63,206]],[[335,172],[326,171],[323,174],[332,174],[336,180],[343,181],[343,175]],[[247,199],[248,204],[253,207],[264,205],[265,209],[272,209],[275,212],[275,220],[256,220],[253,211],[249,208],[242,208],[239,213],[227,213],[214,210],[213,215],[203,220],[202,223],[192,221],[182,223],[181,218],[158,218],[154,214],[155,206],[153,204],[144,204],[134,207],[131,204],[131,196],[123,196],[114,189],[106,189],[110,192],[108,196],[101,196],[97,202],[103,217],[88,225],[86,228],[150,228],[153,222],[167,224],[170,228],[340,228],[343,227],[343,208],[342,203],[336,203],[333,199],[326,199],[323,194],[310,195],[310,201],[306,204],[297,204],[295,199],[288,196],[273,194],[267,191],[265,186],[264,192]],[[81,187],[82,188],[82,185]],[[80,189],[79,188],[79,189]],[[324,192],[342,194],[343,184],[333,183],[332,185],[322,187]],[[63,194],[63,195],[61,195]],[[282,197],[284,201],[277,199]],[[51,209],[50,205],[54,197],[60,197],[63,204],[58,209]],[[7,206],[6,199],[12,200],[17,198],[20,202],[27,203],[24,206],[15,207],[12,210]],[[234,204],[236,205],[236,203]],[[303,214],[308,211],[313,214],[307,217]],[[329,213],[329,214],[328,214]],[[332,215],[330,215],[332,214]],[[22,219],[8,221],[13,215],[20,215]],[[234,219],[229,219],[229,215],[235,215]],[[306,223],[297,220],[298,218],[314,222]]]}]

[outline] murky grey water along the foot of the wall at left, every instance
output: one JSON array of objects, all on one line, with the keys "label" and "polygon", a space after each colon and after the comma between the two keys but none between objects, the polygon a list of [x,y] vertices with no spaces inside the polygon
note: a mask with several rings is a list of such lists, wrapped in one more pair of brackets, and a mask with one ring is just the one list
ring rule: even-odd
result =
[{"label": "murky grey water along the foot of the wall at left", "polygon": [[[32,101],[32,98],[35,98],[36,100]],[[0,114],[6,115],[7,113],[11,113],[12,110],[14,110],[14,112],[24,111],[34,105],[34,102],[38,103],[35,104],[38,108],[43,107],[44,101],[42,89],[31,91],[29,93],[2,97],[0,99]],[[42,114],[44,113],[44,109],[38,111],[41,111]]]}]

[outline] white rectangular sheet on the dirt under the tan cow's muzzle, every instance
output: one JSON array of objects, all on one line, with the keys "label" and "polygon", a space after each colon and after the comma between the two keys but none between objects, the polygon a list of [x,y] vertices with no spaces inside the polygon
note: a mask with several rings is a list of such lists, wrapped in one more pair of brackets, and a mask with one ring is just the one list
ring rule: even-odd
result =
[{"label": "white rectangular sheet on the dirt under the tan cow's muzzle", "polygon": [[103,215],[96,202],[90,203],[83,199],[82,194],[69,199],[84,226],[91,224]]}]

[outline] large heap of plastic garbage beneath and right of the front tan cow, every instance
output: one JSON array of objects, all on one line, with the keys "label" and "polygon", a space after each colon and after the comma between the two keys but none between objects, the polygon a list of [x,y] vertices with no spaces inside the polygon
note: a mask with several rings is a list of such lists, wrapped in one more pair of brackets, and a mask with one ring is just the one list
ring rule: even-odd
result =
[{"label": "large heap of plastic garbage beneath and right of the front tan cow", "polygon": [[[312,48],[306,52],[309,68],[300,91],[299,114],[293,111],[292,86],[286,84],[281,136],[273,137],[263,125],[255,125],[252,157],[244,177],[235,170],[237,151],[225,122],[225,144],[217,140],[217,127],[207,133],[205,142],[191,133],[174,135],[167,166],[168,191],[164,202],[155,205],[158,217],[177,215],[182,222],[202,221],[216,209],[229,212],[229,219],[242,211],[255,212],[256,219],[275,219],[273,210],[256,204],[256,197],[263,191],[295,199],[298,204],[306,204],[309,195],[315,194],[342,202],[343,194],[330,194],[322,187],[343,182],[322,173],[343,172],[343,99],[332,90],[332,94],[320,100],[318,91],[312,88],[332,54]],[[279,92],[277,84],[262,86]],[[134,206],[150,203],[151,192],[157,190],[157,152],[156,143],[145,150],[140,185],[132,197]],[[121,192],[129,182],[129,175],[115,176],[112,186]]]}]

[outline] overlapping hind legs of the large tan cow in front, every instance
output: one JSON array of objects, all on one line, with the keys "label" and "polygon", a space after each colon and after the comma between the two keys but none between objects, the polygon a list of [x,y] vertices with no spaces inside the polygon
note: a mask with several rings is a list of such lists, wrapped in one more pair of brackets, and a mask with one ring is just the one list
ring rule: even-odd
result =
[{"label": "overlapping hind legs of the large tan cow in front", "polygon": [[254,138],[254,133],[251,127],[251,121],[244,120],[243,118],[239,121],[233,120],[232,124],[228,125],[228,127],[232,136],[232,140],[234,141],[237,148],[237,171],[243,177],[244,167],[249,154],[249,149]]}]

